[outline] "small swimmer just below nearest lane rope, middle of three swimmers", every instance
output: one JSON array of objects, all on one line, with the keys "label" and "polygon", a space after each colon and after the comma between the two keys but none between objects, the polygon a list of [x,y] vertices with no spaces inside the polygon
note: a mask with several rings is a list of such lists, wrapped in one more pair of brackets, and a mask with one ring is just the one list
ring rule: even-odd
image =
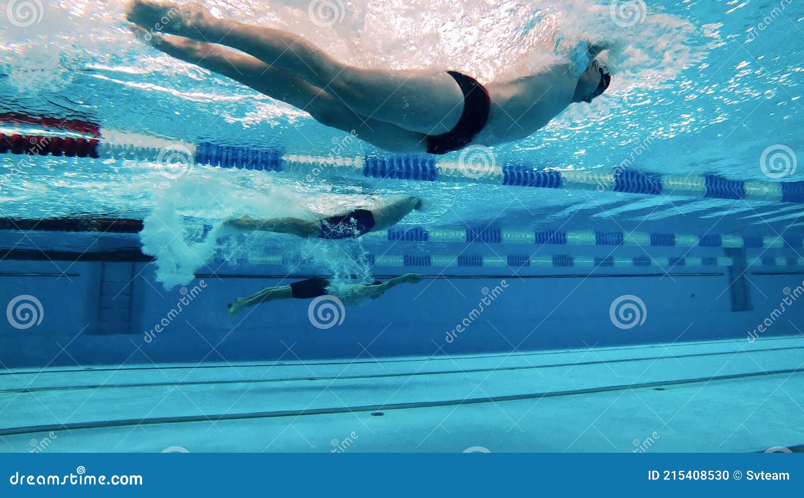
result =
[{"label": "small swimmer just below nearest lane rope, middle of three swimmers", "polygon": [[298,237],[318,237],[330,240],[351,239],[376,230],[391,228],[402,218],[408,216],[409,212],[420,209],[421,205],[420,199],[406,196],[371,211],[353,209],[350,212],[326,216],[317,220],[301,220],[299,218],[256,220],[251,216],[244,215],[234,220],[224,221],[224,225],[243,230],[290,233]]}]

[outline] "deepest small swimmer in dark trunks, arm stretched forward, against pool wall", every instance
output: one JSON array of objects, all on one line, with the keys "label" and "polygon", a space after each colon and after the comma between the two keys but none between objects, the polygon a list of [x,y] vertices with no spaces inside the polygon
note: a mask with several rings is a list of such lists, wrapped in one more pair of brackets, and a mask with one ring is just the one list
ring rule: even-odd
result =
[{"label": "deepest small swimmer in dark trunks, arm stretched forward, against pool wall", "polygon": [[308,278],[299,282],[293,282],[289,286],[268,287],[260,290],[248,298],[237,298],[234,303],[229,305],[228,316],[232,316],[243,311],[244,308],[256,306],[277,299],[312,299],[325,295],[334,295],[341,300],[345,306],[354,306],[362,303],[367,298],[378,299],[387,290],[400,284],[421,282],[420,274],[406,274],[401,277],[392,278],[388,282],[375,280],[370,284],[346,284],[343,286],[330,287],[330,280],[323,277]]}]

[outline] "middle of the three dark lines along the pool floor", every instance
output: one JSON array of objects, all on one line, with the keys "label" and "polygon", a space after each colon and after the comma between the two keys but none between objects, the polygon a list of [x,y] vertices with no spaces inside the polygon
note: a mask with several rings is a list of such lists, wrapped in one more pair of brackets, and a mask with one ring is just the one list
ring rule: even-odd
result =
[{"label": "middle of the three dark lines along the pool floor", "polygon": [[767,349],[753,349],[749,351],[724,351],[724,352],[707,352],[707,353],[691,353],[688,355],[671,355],[671,356],[647,356],[643,358],[621,358],[618,360],[600,360],[600,361],[584,361],[576,363],[555,363],[555,364],[539,364],[527,365],[519,367],[500,367],[500,368],[466,368],[460,370],[441,370],[435,372],[398,372],[398,373],[380,373],[376,375],[347,375],[338,377],[287,377],[283,379],[232,379],[231,381],[195,381],[195,382],[152,382],[142,384],[100,384],[100,385],[65,385],[65,386],[46,386],[38,388],[23,388],[23,389],[0,389],[0,394],[27,394],[27,393],[42,393],[46,391],[75,391],[80,389],[121,389],[121,388],[147,388],[147,387],[183,387],[188,385],[237,385],[237,384],[269,384],[275,382],[304,382],[304,381],[355,381],[360,379],[382,379],[388,377],[421,377],[427,375],[453,375],[456,373],[480,373],[480,372],[510,372],[514,370],[530,370],[535,368],[560,368],[572,366],[589,366],[595,364],[610,364],[610,363],[624,363],[628,361],[648,361],[648,360],[671,360],[679,358],[695,358],[701,356],[721,356],[721,355],[738,355],[740,353],[756,353],[756,352],[771,352],[771,351],[787,351],[793,349],[804,349],[804,346],[790,346],[787,348],[767,348]]}]

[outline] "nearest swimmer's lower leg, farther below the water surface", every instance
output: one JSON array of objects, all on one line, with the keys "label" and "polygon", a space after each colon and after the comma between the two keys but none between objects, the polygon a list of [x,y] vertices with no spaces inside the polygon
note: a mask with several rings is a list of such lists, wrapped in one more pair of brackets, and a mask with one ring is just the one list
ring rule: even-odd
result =
[{"label": "nearest swimmer's lower leg, farther below the water surface", "polygon": [[425,135],[399,126],[363,117],[305,80],[265,64],[231,48],[195,42],[174,35],[149,35],[140,28],[137,35],[158,50],[199,65],[211,72],[245,84],[268,97],[304,110],[324,126],[343,130],[380,149],[393,152],[425,152]]}]

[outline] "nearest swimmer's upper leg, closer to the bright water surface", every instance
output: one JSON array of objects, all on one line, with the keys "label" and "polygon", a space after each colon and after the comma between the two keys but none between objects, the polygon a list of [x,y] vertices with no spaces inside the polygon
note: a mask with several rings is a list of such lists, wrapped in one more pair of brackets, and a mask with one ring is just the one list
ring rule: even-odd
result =
[{"label": "nearest swimmer's upper leg, closer to the bright water surface", "polygon": [[244,51],[324,88],[355,113],[405,130],[446,133],[463,113],[463,93],[447,72],[355,68],[289,31],[216,19],[204,10],[152,0],[134,0],[128,18],[146,30]]}]

